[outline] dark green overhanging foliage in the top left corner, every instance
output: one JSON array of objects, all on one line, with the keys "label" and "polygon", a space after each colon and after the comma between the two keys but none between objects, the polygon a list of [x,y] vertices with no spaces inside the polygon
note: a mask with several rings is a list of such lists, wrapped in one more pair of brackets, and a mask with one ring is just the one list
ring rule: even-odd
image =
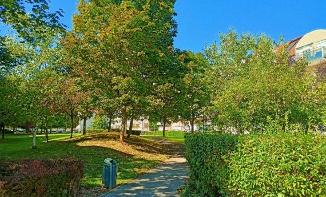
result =
[{"label": "dark green overhanging foliage in the top left corner", "polygon": [[[32,7],[31,13],[26,11],[26,5]],[[47,0],[1,0],[0,1],[0,26],[8,27],[16,32],[19,39],[29,44],[42,40],[51,34],[55,36],[58,31],[63,31],[63,24],[59,22],[62,10],[54,13],[48,12]],[[51,31],[48,31],[51,30]],[[0,68],[11,69],[23,63],[25,54],[17,56],[6,47],[7,35],[0,35]]]}]

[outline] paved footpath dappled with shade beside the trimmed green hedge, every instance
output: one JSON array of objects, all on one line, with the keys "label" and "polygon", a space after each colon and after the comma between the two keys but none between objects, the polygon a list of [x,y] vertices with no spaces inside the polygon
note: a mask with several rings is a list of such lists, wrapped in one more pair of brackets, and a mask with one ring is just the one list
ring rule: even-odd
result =
[{"label": "paved footpath dappled with shade beside the trimmed green hedge", "polygon": [[171,158],[103,197],[180,197],[176,193],[177,188],[184,184],[189,173],[184,158],[184,145],[160,141],[173,147]]}]

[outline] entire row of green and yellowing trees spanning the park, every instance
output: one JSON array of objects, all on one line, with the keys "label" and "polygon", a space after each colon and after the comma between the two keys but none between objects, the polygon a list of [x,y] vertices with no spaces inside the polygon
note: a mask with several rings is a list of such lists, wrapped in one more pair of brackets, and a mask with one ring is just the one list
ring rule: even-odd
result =
[{"label": "entire row of green and yellowing trees spanning the park", "polygon": [[205,55],[174,49],[175,0],[80,0],[71,31],[46,0],[10,2],[0,3],[0,22],[15,30],[0,40],[0,125],[31,123],[34,148],[40,127],[73,130],[94,112],[109,117],[109,131],[122,118],[122,142],[127,119],[140,117],[163,134],[180,120],[239,133],[326,123],[324,68],[312,75],[270,37],[232,29]]}]

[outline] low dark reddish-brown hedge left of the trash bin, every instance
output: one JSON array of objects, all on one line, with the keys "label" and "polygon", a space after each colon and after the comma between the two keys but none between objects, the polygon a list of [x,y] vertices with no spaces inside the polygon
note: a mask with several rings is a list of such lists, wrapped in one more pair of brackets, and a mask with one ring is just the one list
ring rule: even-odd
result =
[{"label": "low dark reddish-brown hedge left of the trash bin", "polygon": [[0,161],[0,196],[73,197],[83,174],[83,161],[74,158]]}]

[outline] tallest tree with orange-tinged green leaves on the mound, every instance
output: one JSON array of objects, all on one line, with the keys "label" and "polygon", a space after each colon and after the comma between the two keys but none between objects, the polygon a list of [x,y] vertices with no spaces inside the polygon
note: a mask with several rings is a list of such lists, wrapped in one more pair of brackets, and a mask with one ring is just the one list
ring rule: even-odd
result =
[{"label": "tallest tree with orange-tinged green leaves on the mound", "polygon": [[174,3],[80,0],[74,29],[62,40],[67,64],[110,93],[119,106],[122,142],[128,108],[149,94],[147,87],[170,56],[176,35]]}]

